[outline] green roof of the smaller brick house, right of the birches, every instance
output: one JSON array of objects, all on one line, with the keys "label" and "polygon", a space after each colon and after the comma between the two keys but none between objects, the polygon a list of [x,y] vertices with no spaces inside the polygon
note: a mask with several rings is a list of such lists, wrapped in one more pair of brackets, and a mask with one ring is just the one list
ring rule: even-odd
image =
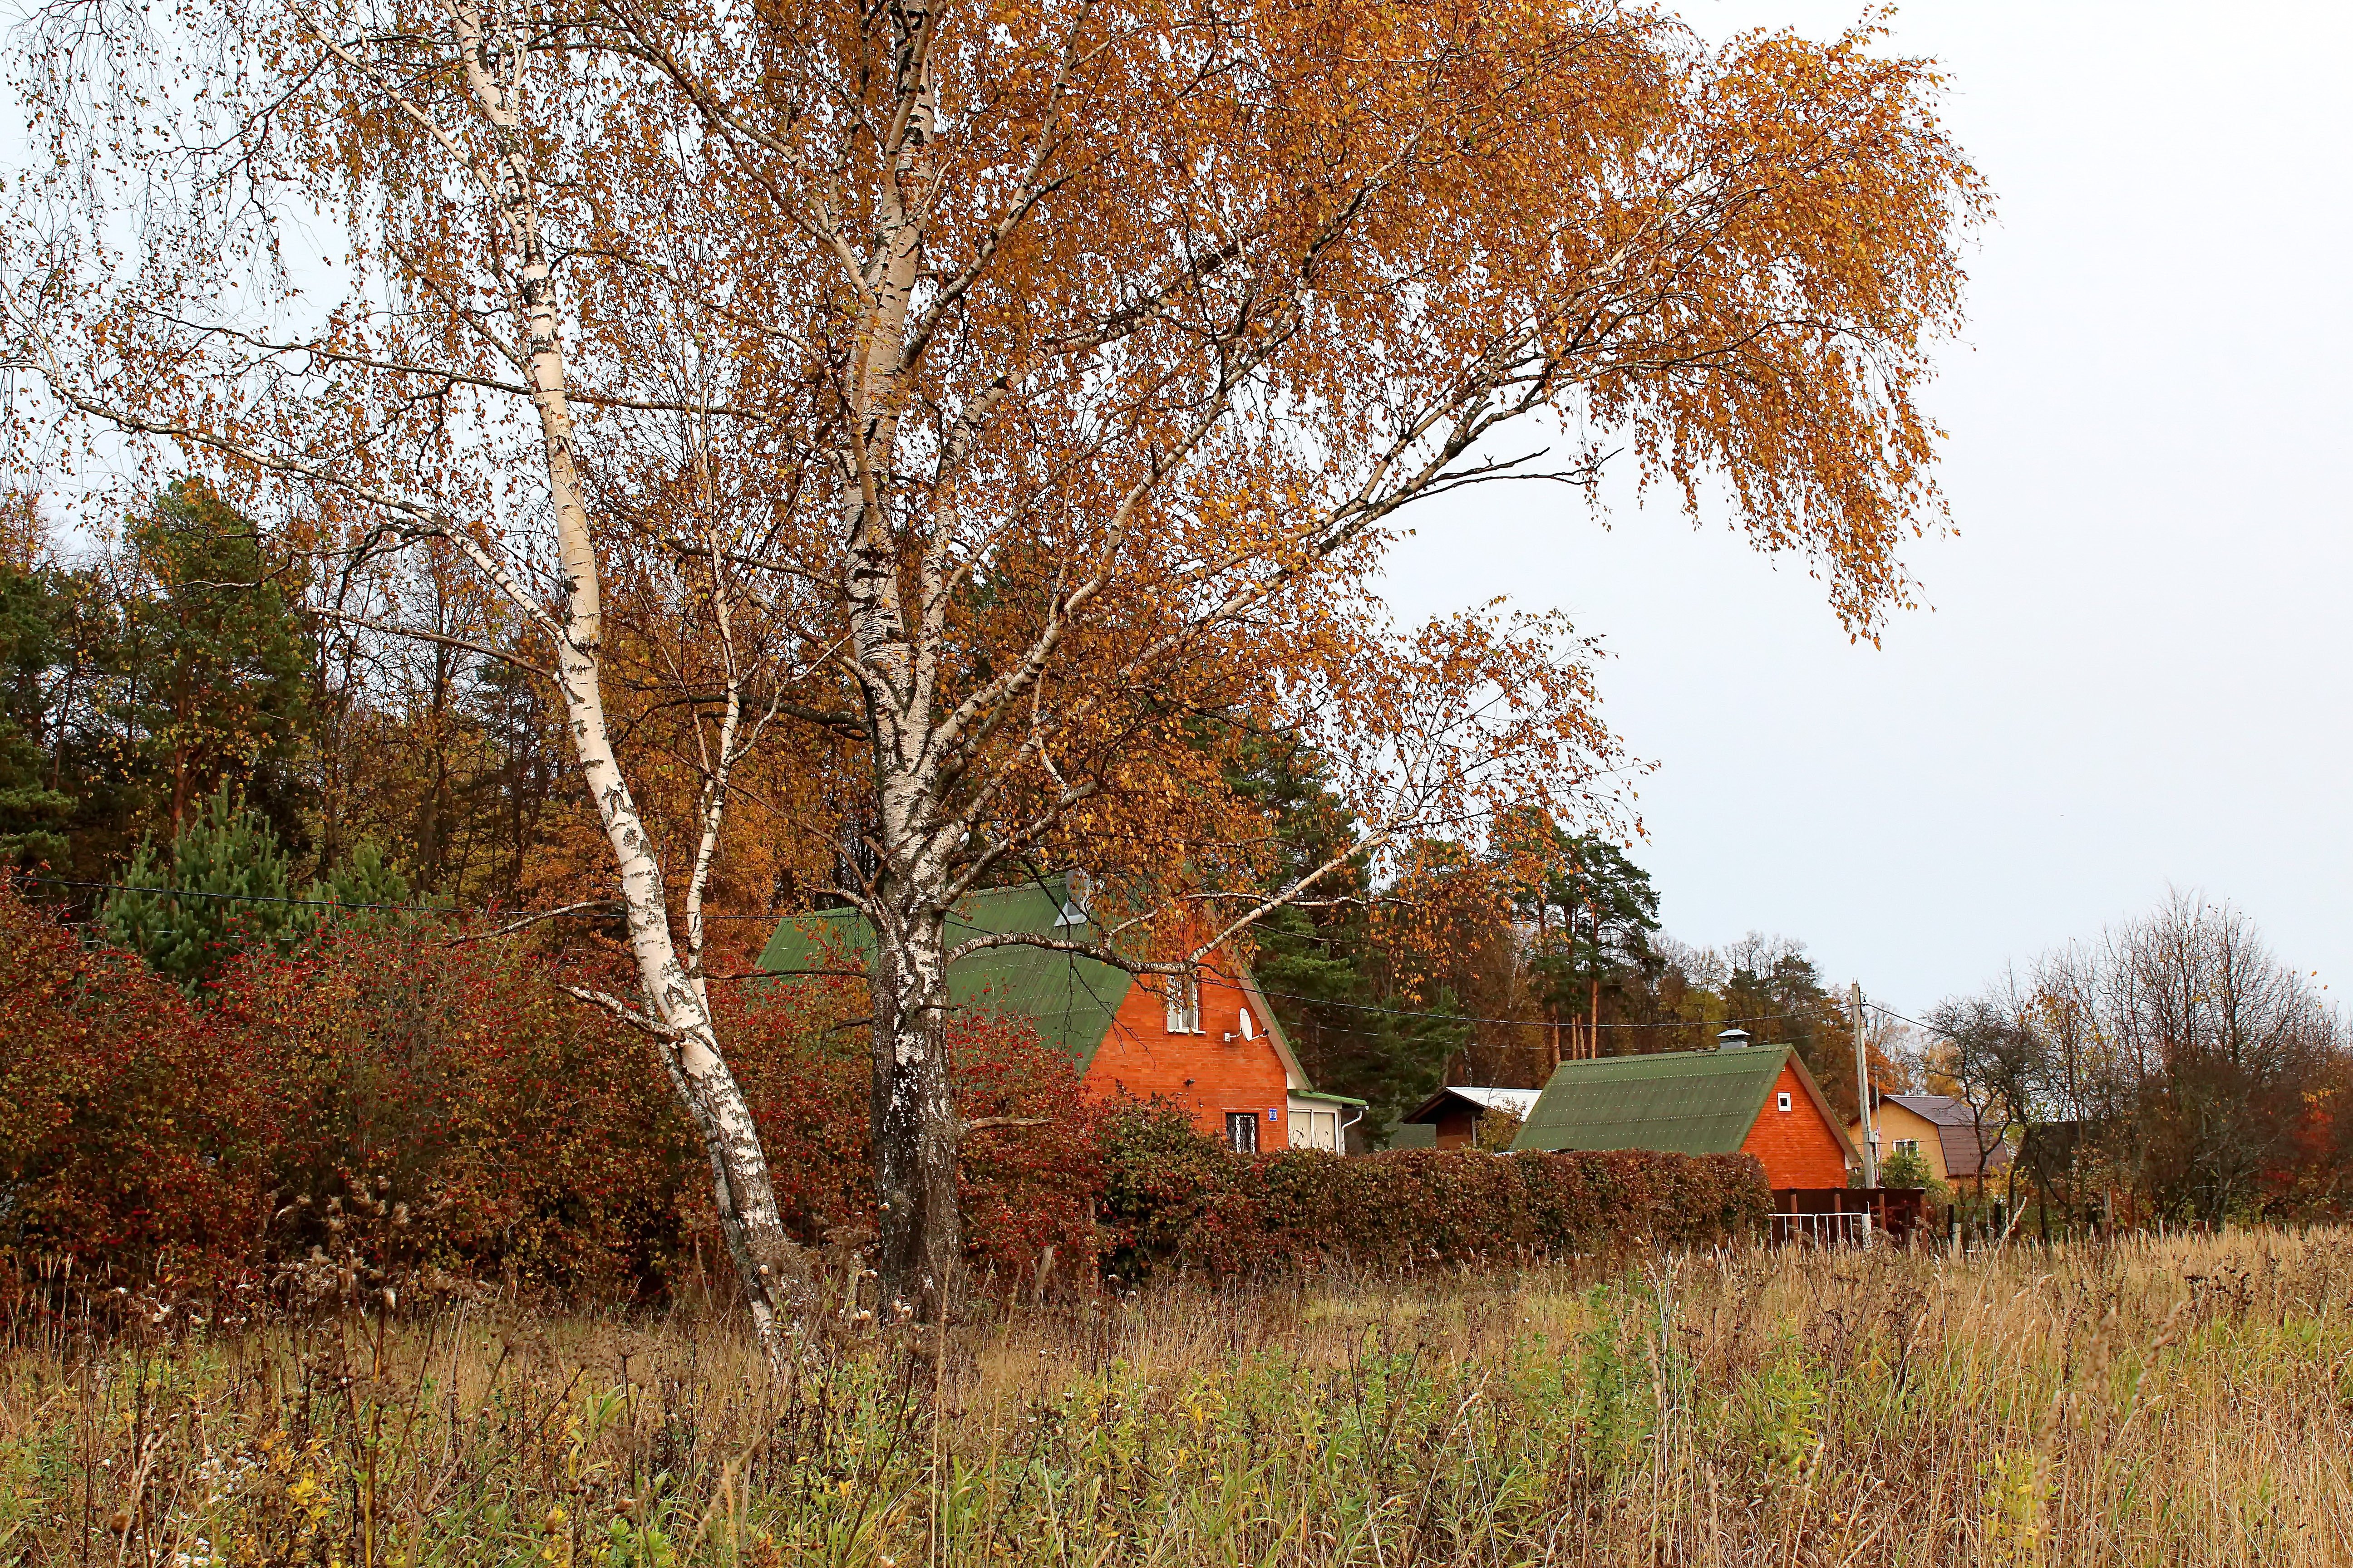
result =
[{"label": "green roof of the smaller brick house, right of the birches", "polygon": [[1746,1046],[1560,1063],[1511,1147],[1732,1154],[1788,1056]]}]

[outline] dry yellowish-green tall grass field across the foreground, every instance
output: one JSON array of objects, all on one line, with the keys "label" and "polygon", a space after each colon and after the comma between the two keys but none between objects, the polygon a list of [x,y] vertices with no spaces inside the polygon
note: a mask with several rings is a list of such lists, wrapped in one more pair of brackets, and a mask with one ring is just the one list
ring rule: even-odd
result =
[{"label": "dry yellowish-green tall grass field across the foreground", "polygon": [[2353,1234],[1165,1288],[779,1394],[725,1314],[71,1333],[28,1563],[2353,1563]]}]

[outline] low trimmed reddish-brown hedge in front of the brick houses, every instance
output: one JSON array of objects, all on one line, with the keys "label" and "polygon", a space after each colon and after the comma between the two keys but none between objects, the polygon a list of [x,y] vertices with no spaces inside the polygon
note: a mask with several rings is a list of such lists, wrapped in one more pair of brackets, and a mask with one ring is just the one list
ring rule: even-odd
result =
[{"label": "low trimmed reddish-brown hedge in front of the brick houses", "polygon": [[1104,1262],[1120,1279],[1708,1246],[1760,1237],[1772,1213],[1751,1154],[1238,1157],[1167,1107],[1129,1107],[1104,1157]]}]

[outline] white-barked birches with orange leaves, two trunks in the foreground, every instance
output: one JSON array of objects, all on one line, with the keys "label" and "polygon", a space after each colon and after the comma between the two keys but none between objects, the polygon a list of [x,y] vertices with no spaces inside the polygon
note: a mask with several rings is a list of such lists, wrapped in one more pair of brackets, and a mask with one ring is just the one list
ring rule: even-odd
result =
[{"label": "white-barked birches with orange leaves, two trunks in the foreground", "polygon": [[[1624,454],[1800,552],[1861,635],[1939,524],[1918,393],[1984,190],[1934,68],[1864,33],[1708,49],[1560,0],[153,26],[87,0],[24,38],[64,108],[7,240],[19,461],[198,465],[346,567],[438,541],[536,625],[628,905],[638,997],[593,1001],[661,1039],[767,1333],[800,1267],[701,971],[746,757],[800,780],[760,830],[878,933],[880,1262],[936,1316],[960,957],[1174,976],[1348,858],[1591,811],[1619,757],[1588,651],[1544,616],[1393,628],[1409,508],[1591,501]],[[600,686],[616,562],[694,649],[675,849]],[[1224,783],[1264,731],[1365,823],[1273,893]],[[1106,889],[1085,940],[955,924],[1073,863]]]}]

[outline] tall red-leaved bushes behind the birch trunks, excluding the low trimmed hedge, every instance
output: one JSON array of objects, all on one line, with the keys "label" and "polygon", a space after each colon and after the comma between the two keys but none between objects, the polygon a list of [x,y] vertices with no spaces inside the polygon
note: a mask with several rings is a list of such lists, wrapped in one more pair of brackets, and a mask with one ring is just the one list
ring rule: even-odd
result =
[{"label": "tall red-leaved bushes behind the birch trunks, excluding the low trimmed hedge", "polygon": [[[647,1295],[718,1258],[708,1164],[652,1044],[560,994],[546,961],[440,926],[346,929],[228,966],[202,1001],[0,891],[0,1241],[188,1286],[334,1246],[341,1199],[395,1204],[424,1262]],[[873,1225],[866,1037],[847,987],[751,985],[720,1027],[809,1244]],[[1071,1063],[988,1016],[951,1027],[974,1117],[974,1269],[1087,1246],[1094,1117]]]}]

